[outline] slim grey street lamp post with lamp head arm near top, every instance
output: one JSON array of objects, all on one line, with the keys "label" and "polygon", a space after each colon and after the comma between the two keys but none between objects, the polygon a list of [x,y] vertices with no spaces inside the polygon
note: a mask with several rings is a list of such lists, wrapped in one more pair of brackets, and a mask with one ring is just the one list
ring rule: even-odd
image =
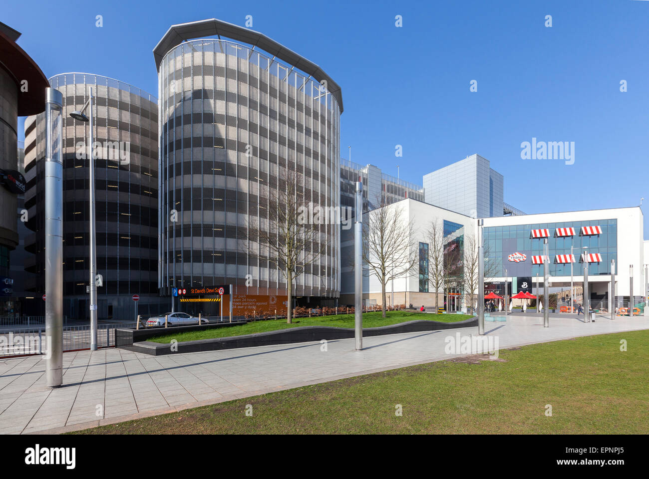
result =
[{"label": "slim grey street lamp post with lamp head arm near top", "polygon": [[[79,121],[88,122],[88,149],[90,158],[88,166],[90,167],[90,350],[97,350],[97,241],[95,234],[95,153],[93,147],[93,116],[92,88],[89,88],[88,101],[81,109],[70,114],[71,117]],[[88,108],[88,116],[84,114]]]}]

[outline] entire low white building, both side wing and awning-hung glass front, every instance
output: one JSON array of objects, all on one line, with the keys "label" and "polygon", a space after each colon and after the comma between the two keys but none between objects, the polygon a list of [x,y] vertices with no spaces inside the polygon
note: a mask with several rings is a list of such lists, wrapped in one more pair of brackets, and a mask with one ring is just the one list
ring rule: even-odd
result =
[{"label": "entire low white building, both side wing and awning-hung glass front", "polygon": [[[398,208],[403,221],[413,222],[413,248],[419,249],[419,273],[389,281],[386,302],[409,306],[434,306],[434,291],[426,281],[426,230],[431,221],[443,227],[445,246],[455,241],[464,247],[477,238],[478,219],[439,206],[404,199],[386,208]],[[364,218],[367,217],[367,214]],[[365,221],[365,219],[364,219]],[[633,265],[633,304],[647,295],[649,241],[644,241],[643,212],[640,207],[611,208],[577,212],[557,212],[532,215],[511,215],[484,218],[485,283],[498,295],[530,291],[543,292],[543,244],[548,240],[550,257],[550,291],[570,290],[572,284],[581,291],[584,265],[587,260],[589,297],[594,308],[609,307],[611,261],[615,262],[615,305],[628,306],[631,265]],[[341,241],[343,282],[340,304],[353,304],[353,232],[349,230]],[[572,251],[571,251],[572,247]],[[585,256],[585,254],[587,256]],[[381,285],[375,276],[366,276],[363,284],[365,304],[382,304]],[[426,288],[426,285],[428,288]],[[438,291],[438,304],[448,299],[448,310],[469,306],[466,288],[459,292],[455,303],[443,290]],[[476,291],[477,292],[477,291]],[[569,297],[569,295],[568,295]],[[582,301],[575,293],[575,301]]]}]

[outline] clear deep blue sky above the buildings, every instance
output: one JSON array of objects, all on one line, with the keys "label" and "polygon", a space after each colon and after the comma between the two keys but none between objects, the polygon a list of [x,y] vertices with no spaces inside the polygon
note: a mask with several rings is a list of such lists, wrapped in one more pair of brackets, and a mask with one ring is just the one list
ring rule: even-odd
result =
[{"label": "clear deep blue sky above the buildings", "polygon": [[[157,95],[152,50],[169,25],[247,15],[340,84],[341,154],[351,145],[354,162],[395,176],[399,164],[421,184],[478,153],[528,213],[649,202],[649,1],[26,0],[5,3],[0,21],[47,77],[97,73]],[[574,141],[574,164],[522,160],[532,138]]]}]

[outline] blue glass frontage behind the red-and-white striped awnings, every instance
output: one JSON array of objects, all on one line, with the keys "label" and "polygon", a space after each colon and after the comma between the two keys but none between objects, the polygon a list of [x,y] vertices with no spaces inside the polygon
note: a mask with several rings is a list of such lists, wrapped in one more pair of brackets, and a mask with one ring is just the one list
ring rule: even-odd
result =
[{"label": "blue glass frontage behind the red-and-white striped awnings", "polygon": [[[602,234],[582,235],[582,227],[599,226]],[[611,260],[617,264],[617,220],[598,219],[590,221],[566,221],[559,223],[536,223],[528,225],[511,225],[502,227],[485,227],[485,269],[493,271],[491,275],[504,277],[508,268],[509,276],[543,276],[543,264],[532,264],[531,255],[543,255],[543,238],[532,238],[532,230],[549,230],[548,247],[550,254],[550,276],[570,276],[570,264],[556,262],[557,254],[570,254],[573,247],[575,262],[572,265],[574,275],[582,275],[582,253],[587,251],[599,253],[601,262],[588,264],[588,274],[610,275]],[[556,228],[574,228],[574,236],[557,237]],[[584,250],[583,247],[587,249]],[[508,261],[509,254],[520,252],[528,256],[527,260],[517,265]],[[512,274],[513,267],[524,267],[519,273]]]}]

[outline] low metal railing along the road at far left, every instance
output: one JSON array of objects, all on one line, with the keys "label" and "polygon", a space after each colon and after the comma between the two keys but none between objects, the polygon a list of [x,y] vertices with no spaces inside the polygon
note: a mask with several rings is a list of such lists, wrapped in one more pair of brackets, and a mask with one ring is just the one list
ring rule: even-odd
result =
[{"label": "low metal railing along the road at far left", "polygon": [[[134,328],[135,326],[136,323],[97,325],[97,347],[114,347],[115,330],[117,328]],[[82,349],[90,349],[90,325],[64,326],[64,352]],[[0,358],[46,353],[47,339],[45,338],[44,326],[41,328],[21,328],[0,334]]]}]

